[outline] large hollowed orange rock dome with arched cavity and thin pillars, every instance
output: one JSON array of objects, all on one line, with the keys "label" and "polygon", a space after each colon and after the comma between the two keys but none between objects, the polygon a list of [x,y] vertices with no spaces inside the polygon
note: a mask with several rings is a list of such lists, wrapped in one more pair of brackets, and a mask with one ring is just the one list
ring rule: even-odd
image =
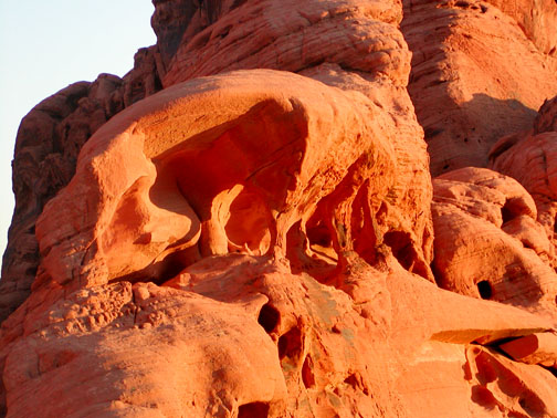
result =
[{"label": "large hollowed orange rock dome with arched cavity and thin pillars", "polygon": [[[351,252],[374,261],[385,240],[406,268],[429,278],[429,212],[402,208],[410,203],[403,194],[429,201],[431,186],[400,176],[393,144],[379,139],[393,129],[366,96],[285,72],[169,87],[84,146],[74,179],[36,224],[35,284],[168,278],[234,251],[291,252],[304,264],[294,247],[303,250],[306,239],[338,253],[340,265]],[[423,146],[408,153],[421,153],[427,166]]]}]

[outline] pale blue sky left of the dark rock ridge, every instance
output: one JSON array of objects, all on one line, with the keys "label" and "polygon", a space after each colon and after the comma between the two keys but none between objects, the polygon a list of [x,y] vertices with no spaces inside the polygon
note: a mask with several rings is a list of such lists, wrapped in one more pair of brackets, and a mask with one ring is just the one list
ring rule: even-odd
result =
[{"label": "pale blue sky left of the dark rock ridge", "polygon": [[69,84],[132,70],[137,49],[156,42],[153,11],[150,0],[0,0],[0,254],[21,118]]}]

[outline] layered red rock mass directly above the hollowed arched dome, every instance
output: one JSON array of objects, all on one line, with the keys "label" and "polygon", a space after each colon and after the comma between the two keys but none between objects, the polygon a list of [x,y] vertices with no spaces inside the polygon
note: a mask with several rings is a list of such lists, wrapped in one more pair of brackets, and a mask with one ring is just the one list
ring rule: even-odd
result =
[{"label": "layered red rock mass directly above the hollowed arched dome", "polygon": [[390,1],[248,1],[183,42],[162,83],[238,69],[299,72],[327,62],[406,85],[409,52],[392,24],[401,19]]}]

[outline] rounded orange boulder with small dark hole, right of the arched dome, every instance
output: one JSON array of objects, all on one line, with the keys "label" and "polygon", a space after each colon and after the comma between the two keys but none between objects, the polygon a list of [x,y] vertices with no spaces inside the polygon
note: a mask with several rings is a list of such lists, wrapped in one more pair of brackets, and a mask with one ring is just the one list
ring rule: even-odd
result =
[{"label": "rounded orange boulder with small dark hole, right of the arched dome", "polygon": [[433,180],[438,284],[474,297],[556,311],[554,245],[514,179],[462,168]]}]

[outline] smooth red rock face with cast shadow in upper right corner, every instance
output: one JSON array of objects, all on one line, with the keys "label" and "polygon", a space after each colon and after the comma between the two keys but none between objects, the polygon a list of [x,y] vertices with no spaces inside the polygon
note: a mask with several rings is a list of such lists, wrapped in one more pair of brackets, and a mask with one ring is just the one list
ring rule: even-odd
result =
[{"label": "smooth red rock face with cast shadow in upper right corner", "polygon": [[403,3],[401,30],[413,52],[409,92],[431,173],[485,167],[495,142],[529,129],[535,112],[557,94],[556,35],[549,30],[557,25],[557,4]]}]

